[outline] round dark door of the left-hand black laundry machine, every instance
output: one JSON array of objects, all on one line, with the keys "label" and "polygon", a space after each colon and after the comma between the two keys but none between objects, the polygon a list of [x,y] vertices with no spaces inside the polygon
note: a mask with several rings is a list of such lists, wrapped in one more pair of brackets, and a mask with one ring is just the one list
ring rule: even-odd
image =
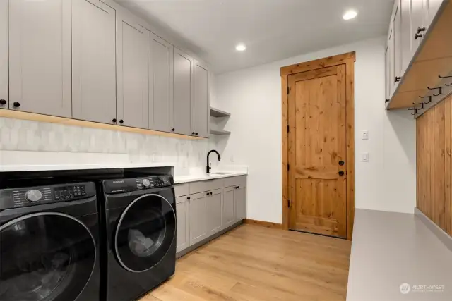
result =
[{"label": "round dark door of the left-hand black laundry machine", "polygon": [[96,260],[93,235],[59,213],[22,216],[0,226],[0,300],[75,300]]}]

